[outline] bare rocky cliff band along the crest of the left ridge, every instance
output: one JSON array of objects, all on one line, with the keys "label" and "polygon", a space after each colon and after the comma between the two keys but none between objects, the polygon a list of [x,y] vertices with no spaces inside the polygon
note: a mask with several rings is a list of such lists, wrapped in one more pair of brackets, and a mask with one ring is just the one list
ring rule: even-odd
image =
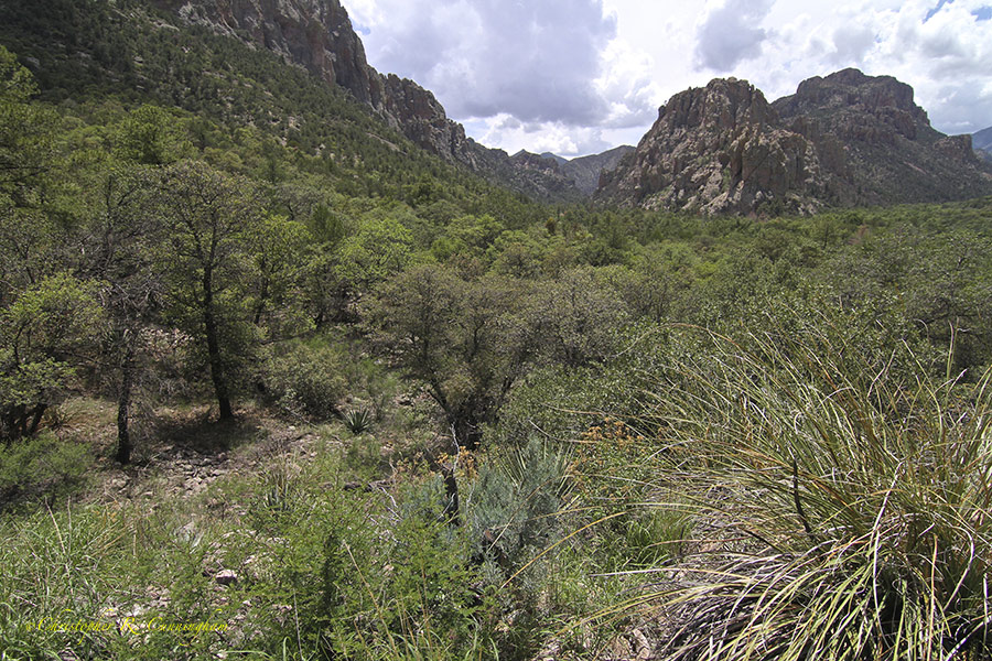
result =
[{"label": "bare rocky cliff band along the crest of the left ridge", "polygon": [[273,51],[325,83],[348,90],[416,144],[446,161],[533,197],[581,196],[568,180],[467,138],[465,129],[448,118],[434,95],[417,83],[373,68],[338,0],[151,1],[187,23]]}]

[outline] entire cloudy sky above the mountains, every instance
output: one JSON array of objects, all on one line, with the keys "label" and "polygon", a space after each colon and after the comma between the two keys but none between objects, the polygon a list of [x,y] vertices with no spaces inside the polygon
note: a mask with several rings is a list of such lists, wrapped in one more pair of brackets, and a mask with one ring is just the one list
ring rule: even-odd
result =
[{"label": "entire cloudy sky above the mountains", "polygon": [[343,0],[369,64],[434,93],[486,147],[637,144],[713,78],[768,100],[853,66],[916,90],[935,128],[992,127],[992,0]]}]

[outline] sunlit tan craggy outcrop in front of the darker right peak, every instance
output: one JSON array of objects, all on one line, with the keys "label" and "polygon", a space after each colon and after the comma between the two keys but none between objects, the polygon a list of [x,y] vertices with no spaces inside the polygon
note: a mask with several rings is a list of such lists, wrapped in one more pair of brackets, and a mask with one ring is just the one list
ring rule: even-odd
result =
[{"label": "sunlit tan craggy outcrop in front of the darker right peak", "polygon": [[746,214],[773,201],[812,210],[822,180],[812,144],[780,127],[758,89],[731,78],[672,97],[637,149],[603,173],[597,195],[703,214]]}]

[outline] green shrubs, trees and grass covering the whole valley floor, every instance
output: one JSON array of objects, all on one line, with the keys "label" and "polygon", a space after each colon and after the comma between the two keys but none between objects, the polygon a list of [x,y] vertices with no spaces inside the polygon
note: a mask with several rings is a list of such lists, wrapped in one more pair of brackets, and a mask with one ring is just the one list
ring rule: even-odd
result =
[{"label": "green shrubs, trees and grass covering the whole valley floor", "polygon": [[548,207],[0,82],[6,658],[990,657],[992,202]]}]

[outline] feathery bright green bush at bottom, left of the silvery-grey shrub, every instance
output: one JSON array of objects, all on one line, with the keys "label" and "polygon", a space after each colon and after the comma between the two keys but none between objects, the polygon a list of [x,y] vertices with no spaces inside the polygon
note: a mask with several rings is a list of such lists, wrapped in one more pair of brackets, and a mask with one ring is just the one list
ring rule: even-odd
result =
[{"label": "feathery bright green bush at bottom, left of the silvery-grey shrub", "polygon": [[389,530],[336,525],[323,565],[323,640],[332,654],[463,659],[485,640],[485,600],[440,480],[400,494]]}]

